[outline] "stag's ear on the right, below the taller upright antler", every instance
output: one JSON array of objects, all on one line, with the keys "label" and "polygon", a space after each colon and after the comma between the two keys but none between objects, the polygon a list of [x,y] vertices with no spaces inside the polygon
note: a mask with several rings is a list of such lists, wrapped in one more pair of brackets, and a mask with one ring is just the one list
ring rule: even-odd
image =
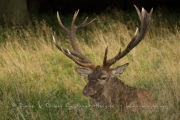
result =
[{"label": "stag's ear on the right, below the taller upright antler", "polygon": [[119,74],[122,74],[124,72],[124,70],[127,68],[128,64],[129,63],[126,63],[124,65],[121,65],[119,67],[111,69],[112,76],[114,77],[114,76],[117,76]]}]

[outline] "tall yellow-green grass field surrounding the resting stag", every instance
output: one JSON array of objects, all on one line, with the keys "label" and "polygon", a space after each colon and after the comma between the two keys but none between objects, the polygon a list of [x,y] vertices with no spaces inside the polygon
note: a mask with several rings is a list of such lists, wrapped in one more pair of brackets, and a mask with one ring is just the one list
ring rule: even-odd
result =
[{"label": "tall yellow-green grass field surrounding the resting stag", "polygon": [[[71,17],[62,21],[68,25]],[[91,17],[97,20],[78,32],[78,45],[90,60],[101,65],[107,45],[109,57],[113,57],[119,47],[124,48],[131,40],[139,25],[138,16],[115,10]],[[180,117],[179,14],[154,12],[145,39],[115,64],[129,62],[119,78],[130,86],[149,90],[155,98],[152,112],[133,114],[92,108],[91,99],[81,92],[86,80],[75,72],[77,65],[55,48],[52,35],[65,48],[69,48],[68,39],[57,26],[55,16],[48,20],[54,23],[35,20],[26,28],[0,27],[0,120],[176,120]]]}]

